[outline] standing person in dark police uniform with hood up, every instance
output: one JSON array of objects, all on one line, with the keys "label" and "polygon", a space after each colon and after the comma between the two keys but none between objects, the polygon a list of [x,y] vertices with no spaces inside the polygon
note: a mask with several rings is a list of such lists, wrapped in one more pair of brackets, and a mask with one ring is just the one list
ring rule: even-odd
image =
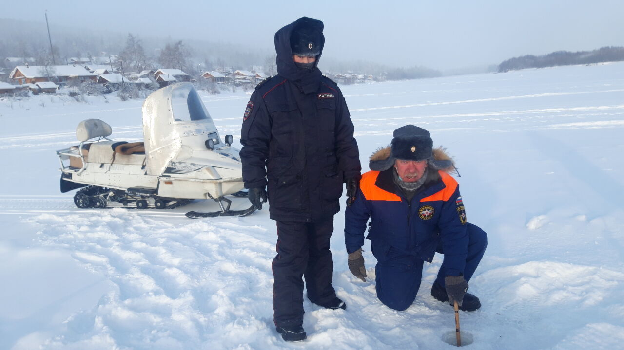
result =
[{"label": "standing person in dark police uniform with hood up", "polygon": [[261,209],[268,199],[277,221],[273,317],[286,341],[306,339],[302,277],[310,301],[346,308],[331,286],[329,237],[342,184],[350,205],[361,166],[343,94],[317,67],[324,41],[323,22],[308,17],[275,33],[278,75],[256,87],[241,129],[249,200]]}]

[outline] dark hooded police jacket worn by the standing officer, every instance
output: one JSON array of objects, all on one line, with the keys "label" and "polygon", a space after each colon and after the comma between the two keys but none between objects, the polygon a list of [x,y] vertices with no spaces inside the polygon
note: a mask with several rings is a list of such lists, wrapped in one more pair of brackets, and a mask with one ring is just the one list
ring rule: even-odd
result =
[{"label": "dark hooded police jacket worn by the standing officer", "polygon": [[315,222],[340,210],[343,182],[361,166],[340,89],[316,65],[293,62],[290,34],[300,21],[323,30],[323,22],[302,17],[276,32],[278,75],[251,95],[240,156],[245,188],[268,184],[271,219]]}]

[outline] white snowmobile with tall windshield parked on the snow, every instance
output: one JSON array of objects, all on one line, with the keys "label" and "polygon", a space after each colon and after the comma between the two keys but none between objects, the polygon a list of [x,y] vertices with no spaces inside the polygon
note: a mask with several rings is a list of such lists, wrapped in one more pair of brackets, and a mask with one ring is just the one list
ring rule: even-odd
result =
[{"label": "white snowmobile with tall windshield parked on the snow", "polygon": [[56,151],[61,162],[61,192],[80,189],[77,207],[171,209],[193,199],[213,199],[217,212],[187,212],[188,217],[245,216],[230,210],[225,196],[246,196],[241,161],[232,135],[222,140],[191,83],[155,91],[143,103],[144,142],[113,141],[110,125],[80,121],[79,144]]}]

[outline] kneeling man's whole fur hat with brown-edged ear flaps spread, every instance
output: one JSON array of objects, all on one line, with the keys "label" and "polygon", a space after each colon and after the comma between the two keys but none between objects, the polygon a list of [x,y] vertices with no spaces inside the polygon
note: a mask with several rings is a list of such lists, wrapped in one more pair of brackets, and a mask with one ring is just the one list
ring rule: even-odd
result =
[{"label": "kneeling man's whole fur hat with brown-edged ear flaps spread", "polygon": [[384,171],[394,165],[396,159],[407,161],[427,160],[434,169],[451,171],[454,163],[443,148],[433,149],[433,140],[429,131],[416,125],[401,126],[392,133],[390,146],[378,149],[370,158],[369,168]]}]

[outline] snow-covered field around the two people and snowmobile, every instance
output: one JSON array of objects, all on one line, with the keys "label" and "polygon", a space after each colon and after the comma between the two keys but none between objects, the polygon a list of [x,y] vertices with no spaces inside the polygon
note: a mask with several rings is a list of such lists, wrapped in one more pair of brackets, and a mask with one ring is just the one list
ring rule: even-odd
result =
[{"label": "snow-covered field around the two people and snowmobile", "polygon": [[[624,62],[342,87],[361,161],[412,123],[454,156],[468,220],[489,235],[461,312],[470,349],[624,348]],[[202,95],[221,135],[244,92]],[[429,294],[441,257],[406,311],[349,273],[344,213],[331,239],[334,287],[348,308],[305,303],[308,340],[272,321],[275,222],[191,220],[173,210],[79,210],[59,192],[54,151],[80,120],[114,140],[142,138],[142,101],[0,100],[0,349],[451,349],[454,313]],[[246,199],[233,199],[237,208]],[[344,207],[344,204],[343,204]]]}]

